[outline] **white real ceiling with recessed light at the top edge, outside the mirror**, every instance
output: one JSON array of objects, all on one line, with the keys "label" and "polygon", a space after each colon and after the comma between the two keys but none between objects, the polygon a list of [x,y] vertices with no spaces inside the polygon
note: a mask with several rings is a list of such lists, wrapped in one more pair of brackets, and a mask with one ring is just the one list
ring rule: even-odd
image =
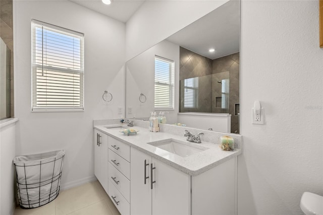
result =
[{"label": "white real ceiling with recessed light at the top edge, outside the mirror", "polygon": [[144,3],[144,1],[137,0],[112,0],[111,5],[104,5],[101,0],[70,1],[124,23],[127,22]]}]

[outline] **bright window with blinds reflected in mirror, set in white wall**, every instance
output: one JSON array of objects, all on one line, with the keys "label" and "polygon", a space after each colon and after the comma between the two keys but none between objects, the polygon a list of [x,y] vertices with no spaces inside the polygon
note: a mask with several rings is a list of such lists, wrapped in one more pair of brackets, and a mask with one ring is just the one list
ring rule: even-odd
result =
[{"label": "bright window with blinds reflected in mirror, set in white wall", "polygon": [[174,110],[174,61],[155,56],[155,109]]}]

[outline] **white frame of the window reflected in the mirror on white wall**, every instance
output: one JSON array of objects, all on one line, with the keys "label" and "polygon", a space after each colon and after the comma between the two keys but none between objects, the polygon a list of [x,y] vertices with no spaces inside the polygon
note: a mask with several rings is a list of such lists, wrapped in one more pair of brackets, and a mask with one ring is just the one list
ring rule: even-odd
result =
[{"label": "white frame of the window reflected in the mirror on white wall", "polygon": [[[155,105],[155,94],[156,94],[156,59],[159,61],[164,61],[169,63],[170,69],[169,69],[169,81],[170,84],[167,84],[170,86],[169,90],[169,99],[170,99],[170,105],[169,106],[156,106]],[[163,84],[163,83],[161,83]],[[166,85],[166,84],[165,84]],[[160,56],[155,55],[154,57],[154,110],[156,111],[173,111],[175,110],[175,62],[173,60],[163,58]]]}]

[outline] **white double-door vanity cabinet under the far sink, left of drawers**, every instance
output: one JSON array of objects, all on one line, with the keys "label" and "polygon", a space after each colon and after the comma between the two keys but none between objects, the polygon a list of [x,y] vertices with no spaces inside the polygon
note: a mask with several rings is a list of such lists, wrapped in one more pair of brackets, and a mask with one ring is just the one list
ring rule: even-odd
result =
[{"label": "white double-door vanity cabinet under the far sink, left of drawers", "polygon": [[105,192],[108,191],[108,153],[107,135],[94,129],[94,175],[101,183]]}]

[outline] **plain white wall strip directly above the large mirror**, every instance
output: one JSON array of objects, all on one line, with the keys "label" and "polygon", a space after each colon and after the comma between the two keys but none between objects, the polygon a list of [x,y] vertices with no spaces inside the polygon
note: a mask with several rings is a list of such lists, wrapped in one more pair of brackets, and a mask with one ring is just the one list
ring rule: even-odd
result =
[{"label": "plain white wall strip directly above the large mirror", "polygon": [[145,1],[126,24],[126,60],[166,39],[228,0]]}]

